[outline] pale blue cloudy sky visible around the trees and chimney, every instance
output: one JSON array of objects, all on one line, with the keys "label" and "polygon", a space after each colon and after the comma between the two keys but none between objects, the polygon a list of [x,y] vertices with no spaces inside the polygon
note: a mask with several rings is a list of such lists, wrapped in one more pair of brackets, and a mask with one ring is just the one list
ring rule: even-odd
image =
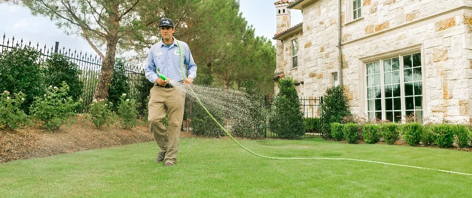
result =
[{"label": "pale blue cloudy sky visible around the trees and chimney", "polygon": [[[255,28],[256,36],[264,36],[272,40],[275,32],[275,5],[277,0],[239,0],[239,11],[248,21],[248,24]],[[291,24],[302,22],[300,10],[292,10]],[[0,3],[0,34],[5,34],[5,43],[13,36],[15,40],[31,41],[39,43],[41,47],[46,45],[51,48],[55,42],[59,42],[59,47],[66,49],[78,49],[83,52],[94,50],[88,43],[76,35],[66,35],[59,29],[55,22],[43,16],[33,16],[27,7]],[[178,38],[177,38],[178,39]],[[2,40],[2,38],[0,39]],[[275,41],[272,40],[275,45]]]}]

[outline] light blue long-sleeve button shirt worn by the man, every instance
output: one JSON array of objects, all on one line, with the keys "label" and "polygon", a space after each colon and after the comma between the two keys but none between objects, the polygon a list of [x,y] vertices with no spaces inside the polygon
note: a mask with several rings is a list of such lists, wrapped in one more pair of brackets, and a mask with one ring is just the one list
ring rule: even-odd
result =
[{"label": "light blue long-sleeve button shirt worn by the man", "polygon": [[[143,66],[146,78],[152,83],[156,83],[156,79],[158,78],[156,68],[161,74],[173,81],[185,80],[182,77],[180,67],[180,53],[182,53],[182,57],[184,58],[183,69],[185,76],[192,79],[195,79],[197,76],[197,65],[193,60],[188,45],[185,42],[177,41],[175,38],[173,38],[173,40],[174,42],[170,47],[165,46],[161,40],[149,49],[148,58]],[[177,42],[182,51],[179,50]]]}]

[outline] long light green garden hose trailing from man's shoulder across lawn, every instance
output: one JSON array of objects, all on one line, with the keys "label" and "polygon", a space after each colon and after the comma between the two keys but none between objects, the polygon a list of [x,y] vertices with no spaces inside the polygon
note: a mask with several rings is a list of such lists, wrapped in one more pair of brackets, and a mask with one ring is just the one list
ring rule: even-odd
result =
[{"label": "long light green garden hose trailing from man's shoulder across lawn", "polygon": [[[180,50],[180,69],[182,70],[182,77],[183,79],[185,80],[185,75],[184,75],[184,72],[183,72],[183,59],[182,59],[182,50],[180,49],[180,45],[178,44],[177,42],[177,46],[179,47],[179,50]],[[210,116],[210,118],[221,128],[221,130],[223,130],[226,135],[228,135],[239,147],[243,148],[244,150],[256,155],[256,156],[259,156],[259,157],[263,157],[263,158],[267,158],[267,159],[285,159],[285,160],[292,160],[292,159],[327,159],[327,160],[349,160],[349,161],[362,161],[362,162],[370,162],[370,163],[378,163],[378,164],[386,164],[386,165],[393,165],[393,166],[402,166],[402,167],[410,167],[410,168],[419,168],[419,169],[426,169],[426,170],[434,170],[434,171],[440,171],[440,172],[445,172],[445,173],[453,173],[453,174],[460,174],[460,175],[469,175],[469,176],[472,176],[472,174],[470,173],[461,173],[461,172],[454,172],[454,171],[448,171],[448,170],[440,170],[440,169],[434,169],[434,168],[424,168],[424,167],[419,167],[419,166],[410,166],[410,165],[402,165],[402,164],[394,164],[394,163],[387,163],[387,162],[380,162],[380,161],[370,161],[370,160],[363,160],[363,159],[349,159],[349,158],[328,158],[328,157],[270,157],[270,156],[265,156],[265,155],[261,155],[261,154],[258,154],[258,153],[255,153],[253,152],[252,150],[249,150],[248,148],[245,148],[244,146],[242,146],[239,142],[236,141],[236,139],[225,129],[225,127],[223,127],[214,117],[213,115],[210,113],[210,111],[208,111],[208,109],[205,107],[205,105],[203,105],[202,101],[200,101],[200,99],[198,98],[198,96],[195,94],[195,92],[193,91],[192,87],[189,86],[188,87],[189,90],[191,91],[191,93],[193,94],[193,96],[195,97],[195,99],[197,100],[198,104],[200,104],[200,106],[202,106],[202,108],[205,110],[205,112],[207,112],[208,116]]]}]

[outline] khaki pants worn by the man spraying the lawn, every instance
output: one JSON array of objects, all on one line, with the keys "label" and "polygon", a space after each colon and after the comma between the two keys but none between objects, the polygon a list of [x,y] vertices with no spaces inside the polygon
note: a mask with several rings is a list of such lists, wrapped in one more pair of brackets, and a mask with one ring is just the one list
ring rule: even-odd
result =
[{"label": "khaki pants worn by the man spraying the lawn", "polygon": [[[165,162],[175,163],[179,148],[180,128],[182,127],[185,95],[175,88],[154,86],[149,100],[149,127],[154,134],[160,152],[165,153]],[[166,111],[169,113],[168,129],[162,125]]]}]

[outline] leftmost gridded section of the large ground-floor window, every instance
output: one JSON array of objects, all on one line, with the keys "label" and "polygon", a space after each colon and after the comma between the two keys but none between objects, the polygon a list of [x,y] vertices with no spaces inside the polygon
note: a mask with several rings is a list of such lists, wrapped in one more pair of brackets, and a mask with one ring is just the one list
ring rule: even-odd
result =
[{"label": "leftmost gridded section of the large ground-floor window", "polygon": [[367,115],[369,120],[382,119],[380,62],[367,64]]}]

